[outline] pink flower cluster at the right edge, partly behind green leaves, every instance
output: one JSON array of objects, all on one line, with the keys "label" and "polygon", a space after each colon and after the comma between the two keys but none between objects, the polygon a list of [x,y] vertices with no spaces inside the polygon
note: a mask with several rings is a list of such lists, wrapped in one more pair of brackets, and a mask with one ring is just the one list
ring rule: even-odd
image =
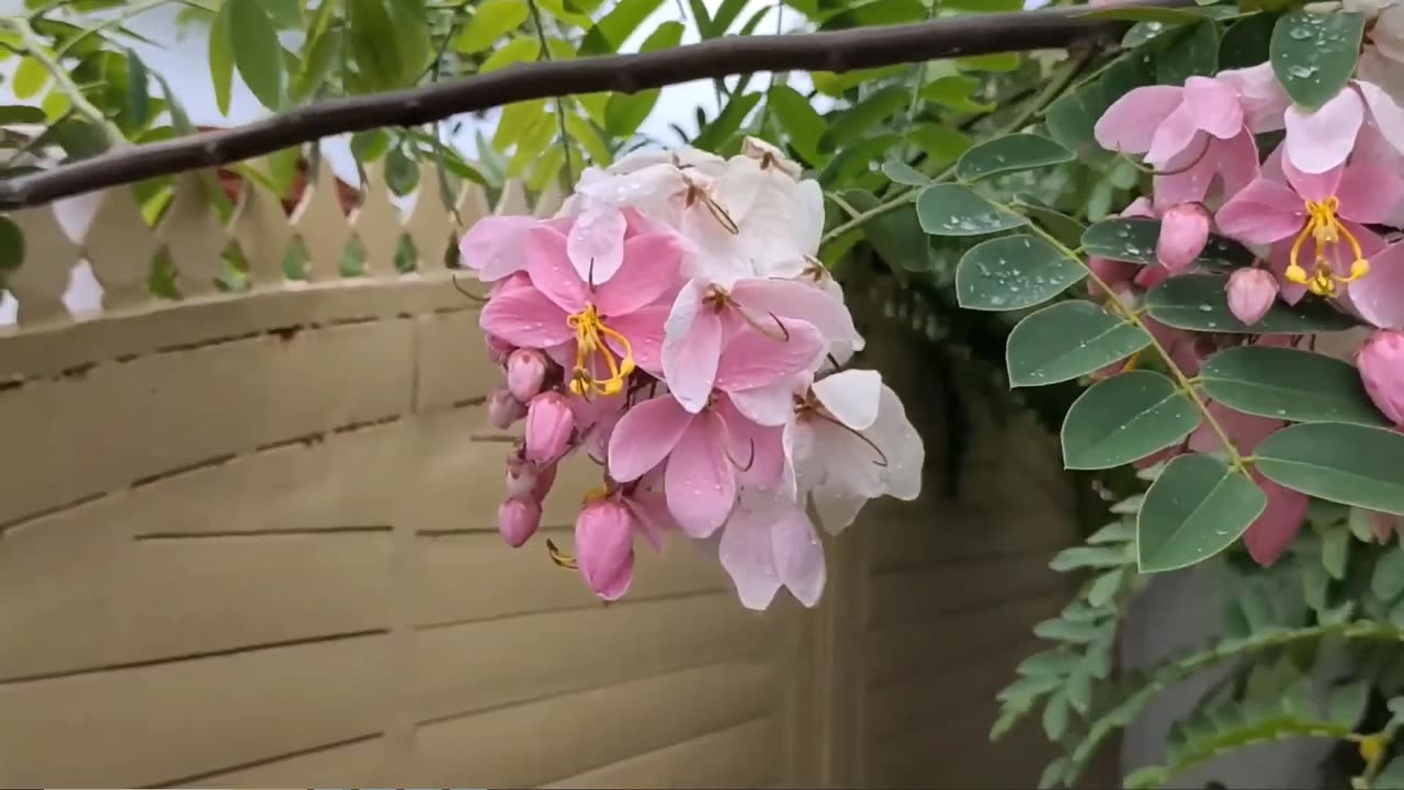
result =
[{"label": "pink flower cluster at the right edge, partly behind green leaves", "polygon": [[[1094,297],[1134,308],[1146,291],[1185,274],[1212,233],[1245,245],[1258,257],[1227,280],[1230,311],[1248,326],[1282,301],[1307,294],[1328,299],[1377,328],[1356,356],[1365,388],[1380,412],[1404,427],[1404,4],[1346,0],[1346,10],[1375,15],[1352,79],[1309,112],[1294,105],[1269,63],[1189,77],[1184,86],[1139,87],[1098,121],[1098,142],[1140,155],[1154,167],[1153,195],[1123,216],[1157,218],[1157,260],[1139,266],[1092,259]],[[1282,132],[1271,152],[1257,135]],[[1266,153],[1266,156],[1264,156]],[[1111,294],[1104,294],[1109,290]],[[1143,319],[1186,374],[1244,336],[1193,335]],[[1292,336],[1250,339],[1296,344]],[[1134,360],[1102,371],[1115,374]],[[1244,457],[1286,423],[1207,403],[1219,429]],[[1205,425],[1181,446],[1140,461],[1184,451],[1213,451],[1221,436]],[[1244,540],[1262,564],[1275,561],[1306,517],[1307,496],[1252,472],[1268,507]],[[1386,519],[1380,517],[1382,523]]]}]

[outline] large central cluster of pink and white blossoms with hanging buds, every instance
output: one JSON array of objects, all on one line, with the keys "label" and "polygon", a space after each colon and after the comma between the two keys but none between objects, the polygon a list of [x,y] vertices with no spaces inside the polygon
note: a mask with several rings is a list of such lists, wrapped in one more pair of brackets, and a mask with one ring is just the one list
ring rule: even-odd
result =
[{"label": "large central cluster of pink and white blossoms with hanging buds", "polygon": [[491,283],[482,328],[507,384],[490,419],[524,420],[507,458],[498,529],[525,544],[556,468],[602,467],[584,495],[576,551],[548,544],[605,600],[633,575],[635,537],[719,536],[751,609],[781,586],[813,606],[828,531],[875,496],[914,499],[924,451],[873,371],[817,254],[819,184],[747,141],[722,159],[636,153],[587,170],[557,216],[493,216],[462,239]]}]

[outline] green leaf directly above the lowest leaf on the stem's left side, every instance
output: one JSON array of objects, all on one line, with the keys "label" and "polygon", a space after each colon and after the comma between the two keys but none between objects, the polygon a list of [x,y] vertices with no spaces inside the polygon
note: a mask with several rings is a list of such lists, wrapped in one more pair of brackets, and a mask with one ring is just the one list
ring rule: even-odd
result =
[{"label": "green leaf directly above the lowest leaf on the stem's left side", "polygon": [[1111,470],[1179,443],[1199,426],[1199,409],[1175,382],[1130,371],[1082,392],[1063,420],[1063,465]]}]

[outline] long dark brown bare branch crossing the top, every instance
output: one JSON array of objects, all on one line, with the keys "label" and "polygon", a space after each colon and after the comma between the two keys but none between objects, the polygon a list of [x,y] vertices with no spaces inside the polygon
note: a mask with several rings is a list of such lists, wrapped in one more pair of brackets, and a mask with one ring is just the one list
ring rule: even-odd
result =
[{"label": "long dark brown bare branch crossing the top", "polygon": [[[1130,0],[1115,7],[1193,4],[1193,0]],[[1126,25],[1087,18],[1087,7],[1043,8],[803,35],[724,37],[640,55],[522,63],[456,82],[322,101],[236,129],[125,146],[20,176],[0,183],[0,211],[227,164],[345,132],[430,124],[532,98],[636,93],[753,72],[849,72],[941,58],[1053,49],[1115,35]]]}]

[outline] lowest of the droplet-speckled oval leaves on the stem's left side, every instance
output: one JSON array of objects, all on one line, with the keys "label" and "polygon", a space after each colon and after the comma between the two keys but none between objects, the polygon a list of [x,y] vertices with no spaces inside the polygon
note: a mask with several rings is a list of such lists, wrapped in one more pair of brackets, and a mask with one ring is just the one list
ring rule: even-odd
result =
[{"label": "lowest of the droplet-speckled oval leaves on the stem's left side", "polygon": [[956,299],[966,309],[1024,309],[1052,299],[1084,277],[1081,263],[1038,236],[1001,236],[960,257]]}]

